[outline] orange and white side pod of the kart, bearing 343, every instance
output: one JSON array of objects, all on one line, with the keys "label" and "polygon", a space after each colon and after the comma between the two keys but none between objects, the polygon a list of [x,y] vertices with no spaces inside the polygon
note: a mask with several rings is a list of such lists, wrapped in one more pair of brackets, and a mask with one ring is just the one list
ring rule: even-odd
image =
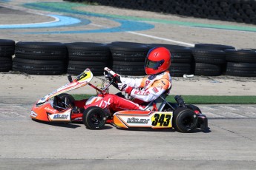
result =
[{"label": "orange and white side pod of the kart, bearing 343", "polygon": [[173,112],[131,111],[114,114],[114,124],[121,128],[171,128]]}]

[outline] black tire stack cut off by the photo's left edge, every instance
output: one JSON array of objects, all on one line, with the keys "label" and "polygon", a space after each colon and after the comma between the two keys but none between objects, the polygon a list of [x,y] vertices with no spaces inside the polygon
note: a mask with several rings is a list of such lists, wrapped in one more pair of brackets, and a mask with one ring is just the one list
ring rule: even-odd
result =
[{"label": "black tire stack cut off by the photo's left edge", "polygon": [[8,39],[0,39],[0,72],[9,72],[12,69],[15,42]]}]

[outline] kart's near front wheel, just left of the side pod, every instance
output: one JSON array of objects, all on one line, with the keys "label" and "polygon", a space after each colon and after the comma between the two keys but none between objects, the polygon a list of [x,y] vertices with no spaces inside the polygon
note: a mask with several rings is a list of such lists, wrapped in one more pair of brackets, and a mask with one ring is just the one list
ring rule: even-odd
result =
[{"label": "kart's near front wheel, just left of the side pod", "polygon": [[82,123],[87,129],[102,129],[106,115],[103,109],[97,106],[88,107],[82,115]]}]

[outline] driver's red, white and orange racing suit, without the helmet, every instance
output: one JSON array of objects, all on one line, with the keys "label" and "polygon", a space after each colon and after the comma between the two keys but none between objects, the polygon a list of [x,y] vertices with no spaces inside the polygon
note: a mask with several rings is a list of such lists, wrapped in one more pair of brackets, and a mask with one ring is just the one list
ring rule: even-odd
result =
[{"label": "driver's red, white and orange racing suit, without the helmet", "polygon": [[[154,101],[167,90],[171,89],[171,75],[168,71],[162,72],[158,75],[147,75],[145,78],[121,78],[122,84],[126,84],[128,88],[125,90],[128,95],[134,100],[128,100],[117,95],[105,95],[104,98],[94,103],[85,105],[87,109],[89,106],[99,106],[102,109],[108,107],[115,112],[125,109],[138,110],[144,109],[142,103]],[[82,102],[85,104],[85,101]],[[81,103],[75,103],[76,106],[81,106]]]}]

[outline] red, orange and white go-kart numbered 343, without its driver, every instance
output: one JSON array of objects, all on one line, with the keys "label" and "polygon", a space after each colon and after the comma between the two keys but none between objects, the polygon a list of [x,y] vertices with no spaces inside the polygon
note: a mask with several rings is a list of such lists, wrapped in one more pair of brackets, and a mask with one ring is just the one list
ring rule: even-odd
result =
[{"label": "red, orange and white go-kart numbered 343, without its driver", "polygon": [[[105,67],[105,79],[102,86],[97,87],[90,83],[93,73],[90,69],[85,69],[76,78],[68,76],[68,84],[46,95],[37,101],[31,112],[30,118],[33,120],[46,122],[82,122],[87,129],[102,129],[105,123],[110,123],[117,128],[151,128],[166,129],[174,128],[178,132],[193,132],[194,129],[206,131],[208,129],[208,119],[203,115],[197,106],[186,104],[180,95],[175,96],[176,103],[165,100],[167,93],[151,101],[143,110],[123,110],[112,112],[101,109],[98,106],[90,106],[87,109],[74,106],[75,99],[66,92],[89,85],[96,89],[97,95],[88,98],[86,105],[100,100],[108,94],[109,86],[116,88],[120,82],[119,75],[108,67]],[[117,94],[116,94],[117,95]]]}]

